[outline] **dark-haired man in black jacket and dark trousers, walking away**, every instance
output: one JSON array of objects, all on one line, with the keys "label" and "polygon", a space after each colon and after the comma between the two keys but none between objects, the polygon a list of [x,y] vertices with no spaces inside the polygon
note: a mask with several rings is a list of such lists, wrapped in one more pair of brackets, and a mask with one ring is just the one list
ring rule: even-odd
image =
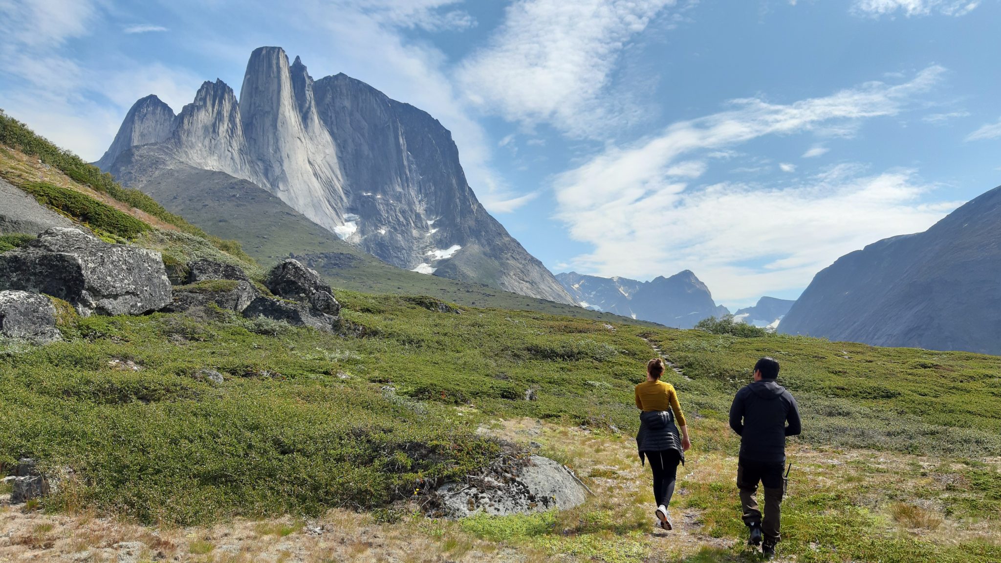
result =
[{"label": "dark-haired man in black jacket and dark trousers, walking away", "polygon": [[[786,437],[802,430],[800,410],[786,388],[775,383],[779,363],[762,358],[754,367],[754,383],[737,392],[730,407],[730,428],[741,437],[737,462],[737,488],[741,493],[744,524],[751,529],[752,545],[762,543],[766,558],[775,557],[779,543],[779,506],[784,493]],[[765,488],[765,518],[758,509],[758,482]]]}]

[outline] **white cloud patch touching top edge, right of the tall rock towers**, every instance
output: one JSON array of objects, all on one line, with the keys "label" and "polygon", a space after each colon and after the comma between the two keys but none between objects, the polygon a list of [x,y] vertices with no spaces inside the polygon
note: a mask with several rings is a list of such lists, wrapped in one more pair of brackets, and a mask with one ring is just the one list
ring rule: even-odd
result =
[{"label": "white cloud patch touching top edge, right of the tall rock towers", "polygon": [[[675,0],[519,0],[487,46],[457,72],[467,99],[528,127],[575,136],[614,126],[635,109],[607,99],[625,45]],[[624,107],[624,105],[626,107]]]}]

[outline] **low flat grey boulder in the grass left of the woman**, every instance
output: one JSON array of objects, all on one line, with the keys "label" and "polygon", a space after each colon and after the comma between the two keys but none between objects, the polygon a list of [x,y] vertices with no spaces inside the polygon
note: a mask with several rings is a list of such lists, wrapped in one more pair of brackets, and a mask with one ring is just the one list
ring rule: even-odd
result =
[{"label": "low flat grey boulder in the grass left of the woman", "polygon": [[587,500],[585,488],[569,469],[542,456],[522,467],[493,467],[465,483],[445,483],[436,491],[431,516],[464,518],[567,510]]}]

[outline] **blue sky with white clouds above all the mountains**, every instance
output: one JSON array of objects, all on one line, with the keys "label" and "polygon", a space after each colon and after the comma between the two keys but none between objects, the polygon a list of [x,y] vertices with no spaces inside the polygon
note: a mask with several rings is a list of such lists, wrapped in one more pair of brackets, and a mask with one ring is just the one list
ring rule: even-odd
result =
[{"label": "blue sky with white clouds above all the mountains", "polygon": [[0,0],[0,107],[88,159],[279,45],[448,127],[554,271],[796,298],[1001,183],[998,0]]}]

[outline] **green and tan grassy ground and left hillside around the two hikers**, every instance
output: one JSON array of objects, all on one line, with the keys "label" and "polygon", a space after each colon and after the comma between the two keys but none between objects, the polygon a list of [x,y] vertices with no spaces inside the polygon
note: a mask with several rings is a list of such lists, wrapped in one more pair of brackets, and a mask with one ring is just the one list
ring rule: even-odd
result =
[{"label": "green and tan grassy ground and left hillside around the two hikers", "polygon": [[[268,210],[264,234],[241,245],[0,118],[0,262],[48,255],[43,245],[73,228],[98,256],[155,256],[165,271],[157,287],[172,296],[141,315],[92,313],[72,292],[32,298],[38,311],[52,308],[48,326],[3,310],[0,471],[11,478],[0,489],[0,560],[754,560],[726,413],[763,355],[780,359],[780,381],[808,421],[790,446],[781,560],[1001,559],[998,357],[736,331],[729,321],[669,329],[518,301],[394,268],[327,238],[256,185],[171,164],[204,186],[205,207],[249,196],[248,207]],[[163,181],[146,184],[149,193],[204,208]],[[216,224],[235,234],[239,216]],[[308,282],[308,296],[285,291],[271,266],[287,246],[267,230],[284,224],[314,244],[301,259],[324,273],[364,264],[358,277],[306,275],[297,283]],[[400,272],[387,277],[399,286],[345,288],[365,284],[364,268]],[[426,279],[452,286],[409,285]],[[442,288],[486,307],[419,295]],[[323,301],[327,290],[336,307]],[[129,297],[141,285],[102,291],[133,313],[155,309]],[[262,315],[238,311],[242,292]],[[747,315],[769,317],[771,306],[783,304],[763,301],[763,313]],[[633,386],[660,353],[680,370],[667,378],[694,443],[671,533],[654,531],[633,440]],[[444,484],[479,487],[498,463],[519,471],[534,456],[569,468],[587,487],[583,502],[440,517]],[[48,494],[13,503],[38,479]]]}]

